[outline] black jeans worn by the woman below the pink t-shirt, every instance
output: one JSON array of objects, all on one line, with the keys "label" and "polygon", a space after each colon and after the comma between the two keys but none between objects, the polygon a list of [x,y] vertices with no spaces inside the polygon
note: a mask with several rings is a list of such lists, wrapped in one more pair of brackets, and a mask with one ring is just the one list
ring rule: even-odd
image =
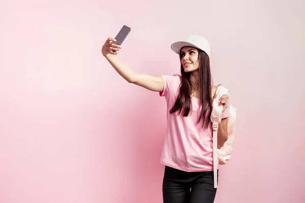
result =
[{"label": "black jeans worn by the woman below the pink t-shirt", "polygon": [[185,172],[165,166],[162,191],[164,203],[212,203],[217,188],[213,171]]}]

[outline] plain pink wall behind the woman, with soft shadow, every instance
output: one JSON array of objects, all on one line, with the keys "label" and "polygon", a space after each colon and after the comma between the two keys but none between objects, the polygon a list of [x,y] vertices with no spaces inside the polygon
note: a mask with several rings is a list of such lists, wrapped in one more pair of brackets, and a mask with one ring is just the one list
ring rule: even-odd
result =
[{"label": "plain pink wall behind the woman, with soft shadow", "polygon": [[1,1],[0,202],[162,202],[163,97],[121,78],[179,73],[170,44],[204,35],[238,108],[217,203],[305,202],[304,1]]}]

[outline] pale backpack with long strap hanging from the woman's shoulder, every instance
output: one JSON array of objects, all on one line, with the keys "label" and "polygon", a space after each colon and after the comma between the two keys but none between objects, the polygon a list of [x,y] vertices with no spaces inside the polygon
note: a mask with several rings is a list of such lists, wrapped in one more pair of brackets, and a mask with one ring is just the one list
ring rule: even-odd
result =
[{"label": "pale backpack with long strap hanging from the woman's shoulder", "polygon": [[226,161],[228,161],[231,157],[231,153],[233,150],[233,143],[235,139],[235,133],[234,133],[234,123],[236,120],[236,111],[237,109],[230,104],[229,108],[229,121],[228,121],[228,140],[225,142],[224,146],[220,149],[217,149],[217,132],[218,132],[218,124],[221,122],[222,117],[222,110],[223,106],[218,105],[219,104],[219,98],[223,94],[228,93],[228,89],[224,88],[223,85],[219,85],[216,93],[217,98],[213,102],[213,108],[212,108],[212,114],[211,114],[211,121],[212,121],[212,127],[213,127],[213,164],[214,164],[214,188],[217,188],[217,169],[218,165],[224,165],[226,164]]}]

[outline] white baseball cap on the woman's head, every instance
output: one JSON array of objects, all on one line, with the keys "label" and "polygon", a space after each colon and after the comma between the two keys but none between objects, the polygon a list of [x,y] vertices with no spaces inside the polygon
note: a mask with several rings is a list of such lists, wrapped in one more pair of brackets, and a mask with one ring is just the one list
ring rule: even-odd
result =
[{"label": "white baseball cap on the woman's head", "polygon": [[180,49],[185,46],[196,47],[197,49],[204,51],[208,57],[210,57],[210,45],[203,36],[190,35],[185,40],[173,43],[171,49],[177,54],[180,54]]}]

